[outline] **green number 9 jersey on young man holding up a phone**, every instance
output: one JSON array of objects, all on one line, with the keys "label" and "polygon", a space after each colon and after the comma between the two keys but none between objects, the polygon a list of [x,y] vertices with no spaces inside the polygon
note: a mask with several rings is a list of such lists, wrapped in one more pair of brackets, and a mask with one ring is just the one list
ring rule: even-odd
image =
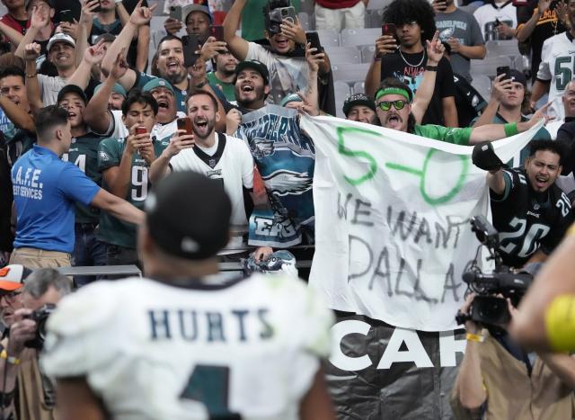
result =
[{"label": "green number 9 jersey on young man holding up a phone", "polygon": [[[155,140],[155,156],[160,156],[168,144],[170,144],[170,138]],[[125,147],[126,139],[103,139],[98,151],[98,169],[103,172],[112,166],[119,166]],[[128,193],[122,198],[140,210],[144,210],[144,202],[150,187],[148,169],[149,166],[144,158],[139,153],[135,153],[132,157]],[[109,190],[103,179],[102,187]],[[135,249],[136,226],[114,218],[107,211],[102,211],[98,239],[108,244]]]}]

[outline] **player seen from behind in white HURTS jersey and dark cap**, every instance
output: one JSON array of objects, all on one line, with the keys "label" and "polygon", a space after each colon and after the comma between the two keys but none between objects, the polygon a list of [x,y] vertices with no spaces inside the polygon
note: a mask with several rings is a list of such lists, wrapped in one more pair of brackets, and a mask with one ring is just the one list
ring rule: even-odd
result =
[{"label": "player seen from behind in white HURTS jersey and dark cap", "polygon": [[201,174],[170,174],[138,233],[145,279],[62,299],[41,366],[66,418],[334,420],[323,370],[333,316],[295,277],[218,275],[232,204]]}]

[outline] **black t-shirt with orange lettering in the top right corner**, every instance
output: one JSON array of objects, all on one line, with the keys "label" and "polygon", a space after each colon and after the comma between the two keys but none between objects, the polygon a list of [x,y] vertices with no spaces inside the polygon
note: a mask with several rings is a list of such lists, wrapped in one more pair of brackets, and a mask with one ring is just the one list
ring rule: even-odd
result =
[{"label": "black t-shirt with orange lettering in the top right corner", "polygon": [[[538,4],[538,0],[529,0],[527,5],[517,5],[517,24],[519,26],[531,19]],[[562,22],[558,21],[555,13],[555,7],[558,4],[558,0],[553,0],[549,9],[537,21],[535,29],[531,32],[531,37],[529,38],[531,44],[531,80],[534,83],[539,63],[541,63],[541,50],[543,49],[544,41],[553,37],[553,35],[564,32],[566,29]]]}]

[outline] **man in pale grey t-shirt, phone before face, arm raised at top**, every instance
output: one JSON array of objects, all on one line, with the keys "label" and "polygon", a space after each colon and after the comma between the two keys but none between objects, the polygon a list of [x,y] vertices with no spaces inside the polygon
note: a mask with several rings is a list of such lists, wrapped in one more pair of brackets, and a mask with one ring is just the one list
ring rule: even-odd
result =
[{"label": "man in pale grey t-shirt, phone before face, arm raised at top", "polygon": [[[237,0],[226,15],[224,36],[227,47],[235,58],[243,61],[258,60],[269,68],[270,103],[280,103],[288,94],[303,90],[307,84],[307,62],[305,50],[296,45],[305,45],[305,31],[298,22],[288,20],[276,22],[270,19],[270,10],[274,4],[267,4],[263,14],[266,22],[266,39],[270,48],[248,42],[235,34],[240,23],[240,16],[247,0]],[[275,2],[277,4],[278,2]],[[325,56],[326,57],[326,56]],[[319,75],[328,76],[331,72],[327,57],[320,64]],[[327,110],[324,110],[327,111]]]}]

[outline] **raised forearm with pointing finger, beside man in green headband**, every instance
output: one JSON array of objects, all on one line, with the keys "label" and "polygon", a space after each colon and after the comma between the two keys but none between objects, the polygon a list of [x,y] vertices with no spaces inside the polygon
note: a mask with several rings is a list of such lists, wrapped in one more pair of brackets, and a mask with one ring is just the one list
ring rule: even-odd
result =
[{"label": "raised forearm with pointing finger, beside man in green headband", "polygon": [[428,54],[428,67],[436,67],[435,70],[426,70],[421,79],[420,87],[418,87],[415,96],[413,97],[413,105],[411,112],[415,117],[415,122],[420,124],[423,120],[423,115],[428,110],[433,91],[435,90],[435,82],[438,76],[439,60],[443,57],[445,47],[439,40],[439,31],[436,31],[432,40],[427,40],[427,54]]}]

